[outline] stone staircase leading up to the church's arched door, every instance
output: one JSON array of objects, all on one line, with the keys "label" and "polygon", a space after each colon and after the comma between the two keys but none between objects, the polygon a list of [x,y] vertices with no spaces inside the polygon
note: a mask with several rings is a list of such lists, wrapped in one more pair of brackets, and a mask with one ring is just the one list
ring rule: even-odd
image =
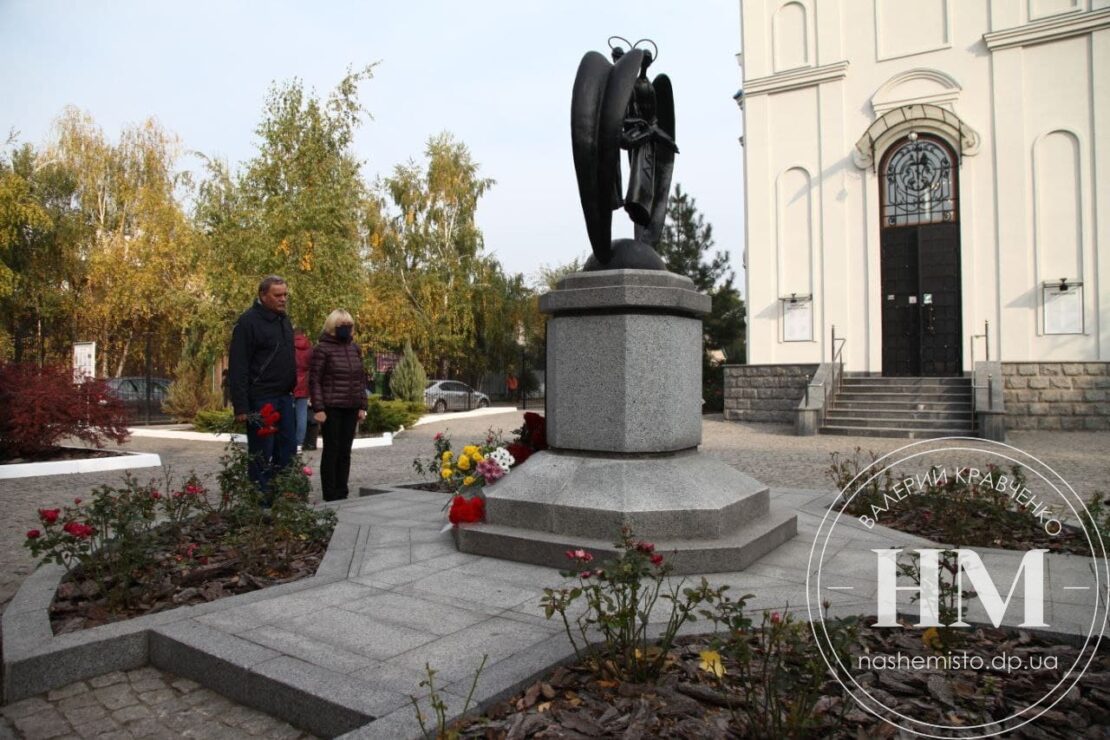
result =
[{"label": "stone staircase leading up to the church's arched door", "polygon": [[846,374],[820,430],[910,439],[977,436],[971,378]]}]

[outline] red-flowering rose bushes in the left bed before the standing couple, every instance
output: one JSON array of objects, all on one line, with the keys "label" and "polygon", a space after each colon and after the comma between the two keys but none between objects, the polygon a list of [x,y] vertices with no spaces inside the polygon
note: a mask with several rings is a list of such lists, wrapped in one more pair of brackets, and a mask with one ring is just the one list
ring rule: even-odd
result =
[{"label": "red-flowering rose bushes in the left bed before the standing couple", "polygon": [[[241,572],[262,578],[287,569],[310,545],[326,544],[335,513],[307,505],[310,469],[303,463],[273,478],[269,510],[248,476],[245,449],[229,445],[221,464],[218,490],[195,475],[176,486],[169,476],[140,484],[128,474],[122,486],[99,486],[88,501],[39,509],[38,526],[23,544],[43,562],[65,567],[70,580],[94,584],[91,598],[109,611],[149,600],[150,588],[180,576],[164,571],[168,553],[181,556],[169,558],[180,564],[230,548]],[[195,541],[200,531],[212,540],[203,548]]]}]

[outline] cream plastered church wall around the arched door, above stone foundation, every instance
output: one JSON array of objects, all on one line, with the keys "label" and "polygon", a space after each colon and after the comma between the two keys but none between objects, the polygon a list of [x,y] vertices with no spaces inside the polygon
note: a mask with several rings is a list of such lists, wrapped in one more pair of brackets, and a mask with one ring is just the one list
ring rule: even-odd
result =
[{"label": "cream plastered church wall around the arched door, above stone foundation", "polygon": [[[1074,22],[1091,11],[1110,18],[1110,0],[920,0],[914,13],[897,7],[741,3],[749,362],[827,359],[835,324],[848,339],[848,369],[881,371],[875,168],[894,140],[880,138],[869,166],[854,163],[852,151],[882,113],[912,102],[951,111],[978,134],[975,146],[950,142],[965,149],[965,368],[969,337],[985,322],[995,358],[1110,359],[1110,321],[1100,320],[1110,305],[1110,259],[1097,259],[1099,244],[1103,254],[1110,249],[1110,217],[1100,221],[1094,210],[1099,193],[1102,202],[1110,193],[1110,146],[1100,149],[1096,135],[1110,121],[1110,28],[991,40],[993,50],[983,36],[1022,32],[1031,21]],[[808,203],[797,192],[806,180]],[[1043,332],[1041,283],[1062,276],[1083,282],[1083,334]],[[783,341],[779,298],[791,292],[814,296],[811,342]],[[981,341],[975,352],[982,358]]]}]

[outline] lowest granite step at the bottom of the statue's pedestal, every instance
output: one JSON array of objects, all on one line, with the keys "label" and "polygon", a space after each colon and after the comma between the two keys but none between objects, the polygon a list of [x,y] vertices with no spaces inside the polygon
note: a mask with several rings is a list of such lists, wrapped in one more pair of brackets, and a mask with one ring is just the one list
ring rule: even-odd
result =
[{"label": "lowest granite step at the bottom of the statue's pedestal", "polygon": [[[565,569],[566,551],[585,549],[595,561],[617,556],[609,539],[556,535],[536,529],[476,524],[455,527],[462,553]],[[770,510],[717,539],[655,539],[655,551],[666,558],[676,576],[744,570],[798,534],[793,508],[771,503]]]}]

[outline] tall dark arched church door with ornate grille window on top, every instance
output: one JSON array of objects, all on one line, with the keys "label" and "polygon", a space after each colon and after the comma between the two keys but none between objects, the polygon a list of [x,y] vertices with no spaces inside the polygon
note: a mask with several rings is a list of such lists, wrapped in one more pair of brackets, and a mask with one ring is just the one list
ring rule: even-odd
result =
[{"label": "tall dark arched church door with ornate grille window on top", "polygon": [[882,374],[962,374],[956,158],[907,138],[882,161]]}]

